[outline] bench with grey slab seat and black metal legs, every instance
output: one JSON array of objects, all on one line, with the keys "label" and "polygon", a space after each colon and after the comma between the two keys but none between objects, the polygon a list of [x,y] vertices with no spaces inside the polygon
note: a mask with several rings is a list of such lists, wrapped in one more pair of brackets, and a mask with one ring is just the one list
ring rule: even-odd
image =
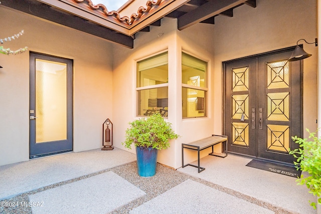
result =
[{"label": "bench with grey slab seat and black metal legs", "polygon": [[[214,152],[213,146],[218,143],[222,143],[222,153]],[[223,157],[223,158],[227,156],[227,136],[225,135],[213,134],[211,137],[197,140],[191,143],[182,143],[182,167],[184,168],[185,166],[194,166],[199,169],[199,173],[203,171],[205,168],[200,166],[200,151],[202,151],[203,149],[209,148],[211,146],[212,146],[212,152],[209,153],[209,155],[214,155],[214,156]],[[193,165],[190,163],[184,165],[184,148],[197,150],[198,165]]]}]

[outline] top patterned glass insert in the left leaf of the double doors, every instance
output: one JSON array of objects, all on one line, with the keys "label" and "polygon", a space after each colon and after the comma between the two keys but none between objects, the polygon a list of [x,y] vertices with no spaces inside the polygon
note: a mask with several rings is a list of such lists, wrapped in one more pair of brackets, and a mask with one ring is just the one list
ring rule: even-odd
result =
[{"label": "top patterned glass insert in the left leaf of the double doors", "polygon": [[249,90],[249,66],[232,69],[232,91]]}]

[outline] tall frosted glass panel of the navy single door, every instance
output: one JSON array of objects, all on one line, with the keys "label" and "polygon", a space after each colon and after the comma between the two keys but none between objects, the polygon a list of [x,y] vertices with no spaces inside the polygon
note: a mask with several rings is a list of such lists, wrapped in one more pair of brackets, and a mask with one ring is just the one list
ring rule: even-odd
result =
[{"label": "tall frosted glass panel of the navy single door", "polygon": [[36,143],[67,139],[67,64],[36,59]]}]

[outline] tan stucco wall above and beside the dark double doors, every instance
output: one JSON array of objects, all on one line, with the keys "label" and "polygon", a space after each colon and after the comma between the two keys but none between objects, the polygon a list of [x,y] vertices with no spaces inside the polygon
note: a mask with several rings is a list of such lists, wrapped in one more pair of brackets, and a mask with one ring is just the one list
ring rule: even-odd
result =
[{"label": "tan stucco wall above and beside the dark double doors", "polygon": [[[222,62],[296,45],[299,39],[317,38],[317,12],[314,0],[256,0],[256,8],[242,6],[234,17],[215,18],[214,93],[222,93]],[[312,54],[303,62],[303,128],[316,130],[317,119],[317,47],[303,44]],[[214,97],[215,131],[222,130],[222,98]],[[220,121],[220,122],[219,122]],[[304,131],[304,135],[306,133]]]}]

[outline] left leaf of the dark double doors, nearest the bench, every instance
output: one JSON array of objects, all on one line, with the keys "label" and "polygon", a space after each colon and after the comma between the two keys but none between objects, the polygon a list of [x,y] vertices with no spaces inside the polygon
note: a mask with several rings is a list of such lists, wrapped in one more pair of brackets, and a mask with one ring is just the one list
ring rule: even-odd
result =
[{"label": "left leaf of the dark double doors, nearest the bench", "polygon": [[252,128],[252,110],[255,97],[251,81],[256,78],[256,60],[245,60],[230,63],[226,66],[226,102],[225,102],[225,134],[228,135],[228,150],[247,155],[256,155],[256,138]]}]

